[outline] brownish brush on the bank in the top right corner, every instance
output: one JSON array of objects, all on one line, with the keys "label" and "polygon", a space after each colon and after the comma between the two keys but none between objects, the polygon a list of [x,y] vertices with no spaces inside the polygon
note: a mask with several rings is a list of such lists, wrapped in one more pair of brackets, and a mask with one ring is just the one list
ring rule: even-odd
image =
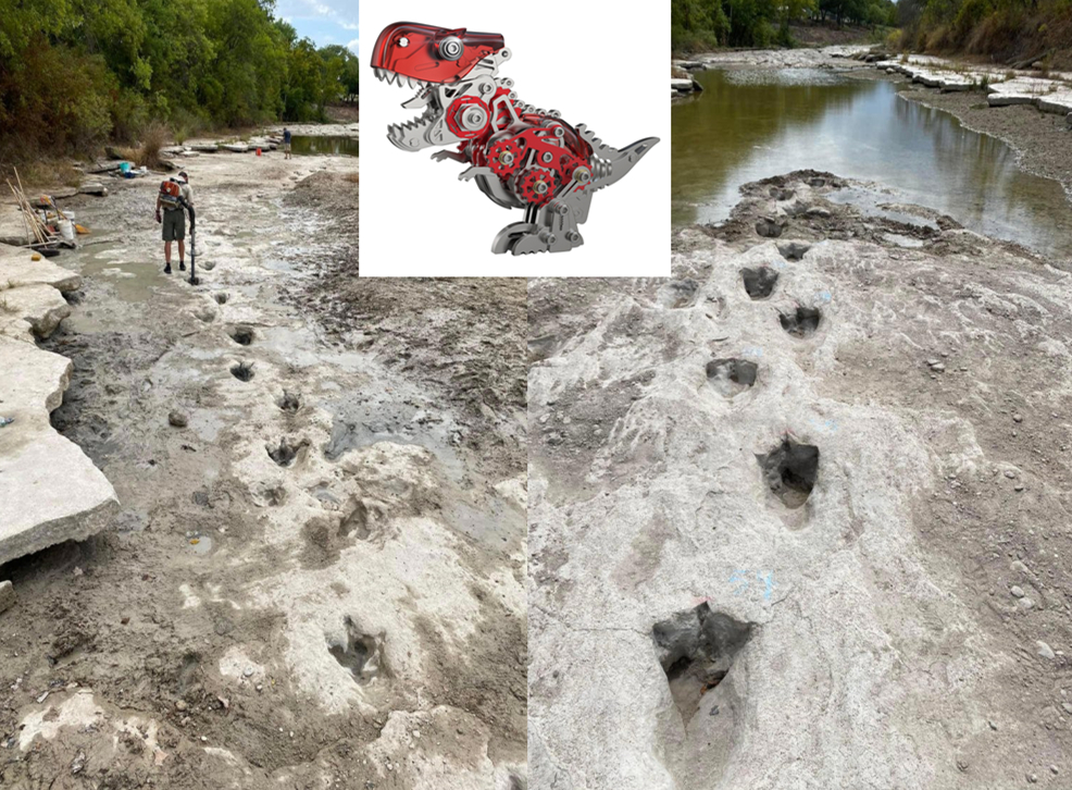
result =
[{"label": "brownish brush on the bank in the top right corner", "polygon": [[1072,0],[900,0],[897,49],[1072,69]]}]

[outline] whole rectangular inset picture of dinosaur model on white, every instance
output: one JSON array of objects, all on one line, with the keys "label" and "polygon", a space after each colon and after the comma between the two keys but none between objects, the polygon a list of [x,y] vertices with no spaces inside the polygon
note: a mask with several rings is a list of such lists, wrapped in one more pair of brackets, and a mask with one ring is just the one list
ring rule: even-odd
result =
[{"label": "whole rectangular inset picture of dinosaur model on white", "polygon": [[[666,276],[669,24],[362,8],[363,276]],[[660,63],[660,61],[663,61]]]}]

